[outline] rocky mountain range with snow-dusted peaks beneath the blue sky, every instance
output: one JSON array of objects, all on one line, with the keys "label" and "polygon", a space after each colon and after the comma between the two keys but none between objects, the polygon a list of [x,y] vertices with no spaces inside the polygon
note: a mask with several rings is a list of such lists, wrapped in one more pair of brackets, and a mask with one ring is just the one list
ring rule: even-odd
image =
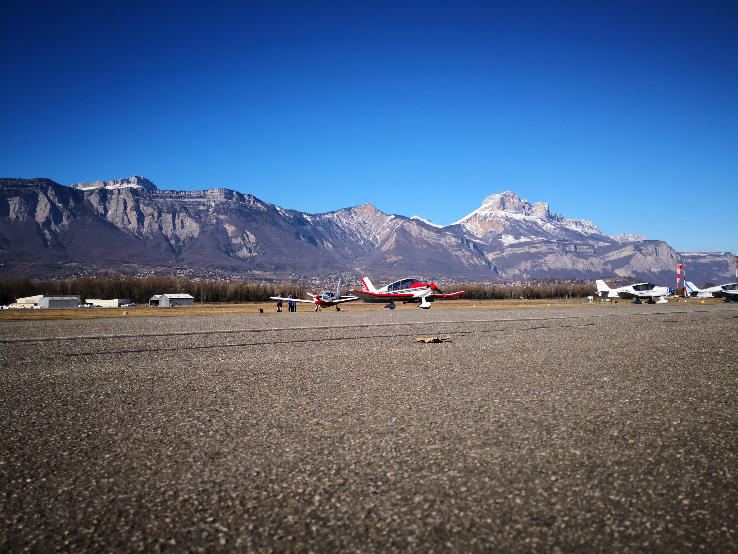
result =
[{"label": "rocky mountain range with snow-dusted peaks beneath the blue sky", "polygon": [[730,278],[731,261],[730,253],[677,253],[642,235],[607,236],[510,191],[442,227],[371,204],[311,214],[227,188],[160,191],[138,176],[72,186],[0,179],[0,273],[11,276],[633,276],[672,284],[681,262],[701,284]]}]

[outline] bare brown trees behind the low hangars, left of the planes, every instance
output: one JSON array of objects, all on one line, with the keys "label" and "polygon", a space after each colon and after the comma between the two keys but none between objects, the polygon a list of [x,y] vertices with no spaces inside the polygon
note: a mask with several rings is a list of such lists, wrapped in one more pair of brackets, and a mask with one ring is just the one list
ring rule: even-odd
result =
[{"label": "bare brown trees behind the low hangars, left of the planes", "polygon": [[131,298],[144,304],[155,294],[191,294],[196,302],[259,302],[278,294],[305,298],[306,287],[299,283],[260,283],[255,281],[193,281],[165,276],[103,276],[35,281],[28,278],[0,276],[0,304],[38,294],[76,295],[86,298]]}]

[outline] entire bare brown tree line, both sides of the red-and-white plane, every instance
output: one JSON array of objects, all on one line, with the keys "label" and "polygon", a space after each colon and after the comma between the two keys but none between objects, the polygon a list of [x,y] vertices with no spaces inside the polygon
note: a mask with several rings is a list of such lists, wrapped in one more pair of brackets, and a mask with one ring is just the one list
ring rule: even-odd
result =
[{"label": "entire bare brown tree line, both sides of the red-and-white plane", "polygon": [[[498,284],[454,284],[442,287],[445,293],[466,290],[463,298],[472,300],[500,300],[504,298],[585,298],[594,294],[593,284],[526,284],[520,287]],[[136,304],[148,302],[155,294],[186,293],[196,302],[263,302],[269,296],[294,294],[306,298],[308,288],[303,284],[282,281],[194,281],[189,278],[165,276],[103,276],[35,281],[28,278],[0,276],[0,304],[15,302],[16,298],[37,294],[77,295],[87,298],[131,298]]]}]

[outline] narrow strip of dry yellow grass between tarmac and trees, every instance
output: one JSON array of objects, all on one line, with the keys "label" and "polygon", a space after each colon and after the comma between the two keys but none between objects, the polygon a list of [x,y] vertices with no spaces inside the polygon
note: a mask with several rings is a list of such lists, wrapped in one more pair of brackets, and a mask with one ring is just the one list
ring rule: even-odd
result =
[{"label": "narrow strip of dry yellow grass between tarmac and trees", "polygon": [[[700,304],[700,300],[689,300],[689,304]],[[720,302],[717,298],[708,298],[706,303]],[[621,300],[619,305],[627,304],[628,301]],[[444,310],[449,308],[525,308],[525,307],[570,307],[587,306],[607,308],[615,304],[587,304],[587,301],[568,301],[559,304],[556,300],[445,300],[435,301],[432,310]],[[283,307],[287,312],[286,305]],[[0,321],[34,321],[34,320],[64,320],[64,319],[94,319],[94,318],[119,318],[119,317],[151,317],[166,315],[219,315],[257,313],[259,310],[265,313],[275,312],[275,302],[249,302],[246,304],[195,304],[193,307],[148,307],[137,306],[133,308],[49,308],[46,310],[2,310]],[[362,302],[346,302],[341,310],[347,312],[357,310],[384,310],[384,304],[363,304]],[[397,310],[418,310],[418,304],[397,304]],[[298,304],[299,312],[312,312],[310,304]],[[335,311],[335,308],[323,308],[323,310]]]}]

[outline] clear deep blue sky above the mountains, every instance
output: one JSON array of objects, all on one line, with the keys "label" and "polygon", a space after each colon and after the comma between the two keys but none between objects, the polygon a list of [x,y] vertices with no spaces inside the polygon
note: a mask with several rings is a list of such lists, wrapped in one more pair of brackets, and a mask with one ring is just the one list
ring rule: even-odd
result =
[{"label": "clear deep blue sky above the mountains", "polygon": [[736,1],[15,4],[2,177],[441,224],[511,190],[606,233],[738,248]]}]

